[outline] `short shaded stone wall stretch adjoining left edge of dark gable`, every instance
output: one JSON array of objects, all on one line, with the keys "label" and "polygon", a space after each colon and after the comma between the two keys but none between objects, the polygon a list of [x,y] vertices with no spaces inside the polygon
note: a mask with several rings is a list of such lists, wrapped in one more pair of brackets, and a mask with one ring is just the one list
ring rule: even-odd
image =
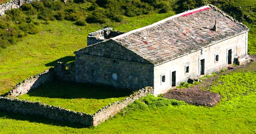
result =
[{"label": "short shaded stone wall stretch adjoining left edge of dark gable", "polygon": [[62,62],[58,62],[54,66],[54,79],[60,81],[75,81],[75,63],[72,62],[70,64],[64,64]]}]

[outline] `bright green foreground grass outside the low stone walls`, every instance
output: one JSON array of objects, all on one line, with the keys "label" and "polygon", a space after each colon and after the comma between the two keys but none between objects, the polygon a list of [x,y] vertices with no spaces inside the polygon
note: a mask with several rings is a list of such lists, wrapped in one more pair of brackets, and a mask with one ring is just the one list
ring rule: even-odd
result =
[{"label": "bright green foreground grass outside the low stone walls", "polygon": [[[148,96],[92,128],[67,122],[0,112],[1,134],[255,134],[256,63],[221,76],[211,91],[221,94],[215,107],[183,104]],[[250,70],[250,71],[247,71]],[[235,84],[234,84],[235,83]],[[179,102],[178,102],[179,103]]]}]

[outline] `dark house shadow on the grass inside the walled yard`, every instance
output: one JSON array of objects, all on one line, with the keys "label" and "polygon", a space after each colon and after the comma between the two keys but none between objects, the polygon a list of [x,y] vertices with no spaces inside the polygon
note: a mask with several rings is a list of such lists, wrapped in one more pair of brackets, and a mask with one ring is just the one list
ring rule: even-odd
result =
[{"label": "dark house shadow on the grass inside the walled yard", "polygon": [[106,99],[129,96],[131,93],[132,91],[130,90],[115,89],[110,86],[53,81],[45,83],[41,87],[33,89],[27,94],[29,96],[63,99]]}]

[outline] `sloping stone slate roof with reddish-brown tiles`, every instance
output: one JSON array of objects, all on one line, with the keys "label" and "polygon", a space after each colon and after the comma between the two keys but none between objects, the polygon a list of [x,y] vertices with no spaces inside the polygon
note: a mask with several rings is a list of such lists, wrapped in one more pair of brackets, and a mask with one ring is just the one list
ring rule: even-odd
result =
[{"label": "sloping stone slate roof with reddish-brown tiles", "polygon": [[159,64],[246,31],[248,27],[208,5],[112,39],[150,63]]}]

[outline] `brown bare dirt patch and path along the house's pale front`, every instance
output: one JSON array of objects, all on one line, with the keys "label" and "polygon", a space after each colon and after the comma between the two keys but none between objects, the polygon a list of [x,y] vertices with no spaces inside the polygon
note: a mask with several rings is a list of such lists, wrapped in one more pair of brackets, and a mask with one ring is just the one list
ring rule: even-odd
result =
[{"label": "brown bare dirt patch and path along the house's pale front", "polygon": [[213,77],[205,78],[202,83],[198,85],[191,86],[186,89],[172,89],[167,93],[163,94],[164,98],[176,99],[180,101],[185,101],[193,105],[202,105],[202,106],[214,106],[216,105],[221,96],[219,94],[209,91],[210,85],[212,82],[222,75],[230,74],[231,72],[236,71],[255,71],[256,70],[256,55],[250,56],[254,61],[250,64],[240,65],[240,66],[229,66],[228,70],[217,73]]}]

